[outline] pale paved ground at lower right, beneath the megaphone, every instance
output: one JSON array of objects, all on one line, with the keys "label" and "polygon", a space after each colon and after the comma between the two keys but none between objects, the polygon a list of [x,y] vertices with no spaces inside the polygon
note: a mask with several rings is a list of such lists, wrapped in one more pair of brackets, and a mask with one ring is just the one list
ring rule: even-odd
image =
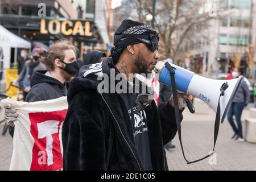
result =
[{"label": "pale paved ground at lower right, beneath the megaphone", "polygon": [[[242,121],[248,110],[243,110]],[[188,160],[196,160],[209,154],[213,149],[215,113],[191,114],[184,111],[184,121],[181,125],[183,147]],[[244,130],[244,127],[243,127]],[[170,170],[256,170],[256,144],[235,142],[231,140],[233,130],[227,120],[220,125],[216,143],[216,164],[210,165],[209,158],[194,164],[187,164],[183,159],[179,138],[173,140],[176,148],[167,150],[167,160]],[[213,160],[210,160],[211,163]]]}]

